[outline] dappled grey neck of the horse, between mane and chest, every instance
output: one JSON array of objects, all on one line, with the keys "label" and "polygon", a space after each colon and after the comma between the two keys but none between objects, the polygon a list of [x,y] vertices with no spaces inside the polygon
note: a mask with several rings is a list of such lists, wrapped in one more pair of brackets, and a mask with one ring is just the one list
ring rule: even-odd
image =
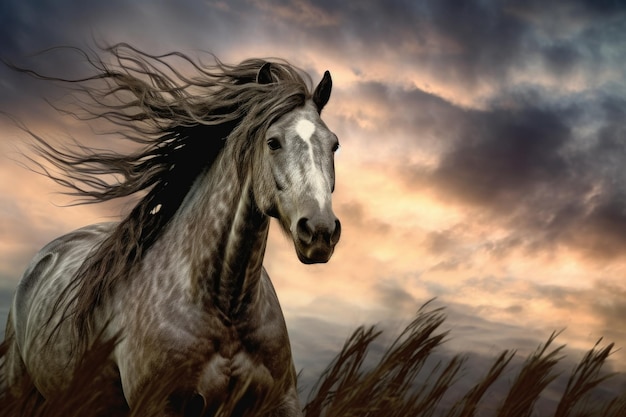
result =
[{"label": "dappled grey neck of the horse, between mane and chest", "polygon": [[269,219],[254,203],[250,170],[241,175],[234,160],[222,151],[196,180],[170,228],[190,271],[192,298],[227,318],[259,290],[269,230]]}]

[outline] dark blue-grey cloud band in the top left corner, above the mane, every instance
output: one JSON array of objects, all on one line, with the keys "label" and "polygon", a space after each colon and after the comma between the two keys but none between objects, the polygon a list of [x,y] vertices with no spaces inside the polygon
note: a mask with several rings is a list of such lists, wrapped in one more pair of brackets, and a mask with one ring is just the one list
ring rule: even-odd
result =
[{"label": "dark blue-grey cloud band in the top left corner, above the mane", "polygon": [[[1,7],[2,50],[18,57],[58,45],[90,45],[93,38],[120,42],[123,39],[119,35],[135,35],[134,39],[125,40],[150,43],[163,35],[182,40],[194,33],[214,33],[222,27],[216,10],[196,1],[37,0],[6,1]],[[147,33],[148,36],[140,36]]]}]

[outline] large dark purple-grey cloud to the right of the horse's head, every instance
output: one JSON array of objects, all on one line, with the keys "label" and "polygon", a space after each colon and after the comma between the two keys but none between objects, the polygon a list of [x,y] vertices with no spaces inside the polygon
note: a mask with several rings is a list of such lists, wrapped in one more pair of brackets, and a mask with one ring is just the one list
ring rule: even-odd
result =
[{"label": "large dark purple-grey cloud to the right of the horse's head", "polygon": [[[388,124],[372,129],[372,142],[404,135],[397,155],[404,181],[480,207],[512,230],[500,243],[565,244],[608,257],[626,250],[626,99],[619,90],[555,97],[519,87],[481,110],[418,88],[369,82],[354,91],[386,112]],[[411,162],[424,151],[438,155],[434,167]],[[429,241],[433,248],[442,236]]]}]

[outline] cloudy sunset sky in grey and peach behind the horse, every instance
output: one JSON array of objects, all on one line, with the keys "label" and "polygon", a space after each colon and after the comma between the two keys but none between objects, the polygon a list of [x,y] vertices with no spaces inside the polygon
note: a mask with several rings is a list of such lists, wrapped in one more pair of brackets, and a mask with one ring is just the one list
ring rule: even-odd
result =
[{"label": "cloudy sunset sky in grey and peach behind the horse", "polygon": [[[324,119],[340,138],[330,263],[298,263],[274,225],[265,265],[297,367],[357,325],[390,332],[436,297],[448,349],[523,356],[565,329],[573,359],[600,338],[626,370],[626,7],[619,1],[234,0],[0,3],[0,56],[55,75],[82,63],[48,47],[129,42],[282,57],[331,71]],[[206,59],[206,56],[204,56]],[[94,140],[44,99],[63,90],[0,68],[0,110],[63,140]],[[124,207],[61,207],[13,159],[0,119],[0,312],[47,241]],[[578,355],[578,356],[577,356]]]}]

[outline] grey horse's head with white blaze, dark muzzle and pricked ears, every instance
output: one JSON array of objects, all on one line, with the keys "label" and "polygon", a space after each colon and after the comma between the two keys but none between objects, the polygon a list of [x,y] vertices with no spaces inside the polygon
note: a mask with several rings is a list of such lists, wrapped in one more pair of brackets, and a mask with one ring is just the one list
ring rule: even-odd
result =
[{"label": "grey horse's head with white blaze, dark muzzle and pricked ears", "polygon": [[[270,71],[269,64],[264,65],[257,82],[271,83]],[[341,234],[331,201],[339,141],[320,118],[331,88],[326,71],[303,106],[269,126],[259,152],[261,167],[255,169],[253,179],[259,209],[279,220],[306,264],[327,262]]]}]

